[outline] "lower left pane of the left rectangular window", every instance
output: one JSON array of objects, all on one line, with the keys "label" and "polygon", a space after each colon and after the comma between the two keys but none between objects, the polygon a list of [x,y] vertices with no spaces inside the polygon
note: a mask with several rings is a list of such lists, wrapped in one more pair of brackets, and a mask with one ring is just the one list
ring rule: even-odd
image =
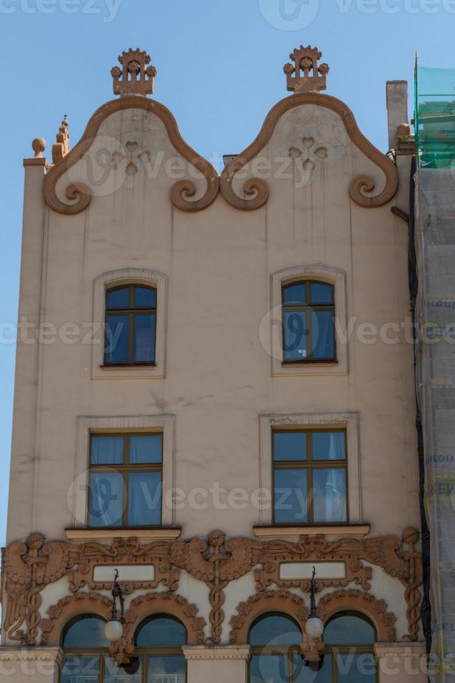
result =
[{"label": "lower left pane of the left rectangular window", "polygon": [[90,475],[90,526],[120,526],[123,512],[123,477],[121,474],[93,472]]}]

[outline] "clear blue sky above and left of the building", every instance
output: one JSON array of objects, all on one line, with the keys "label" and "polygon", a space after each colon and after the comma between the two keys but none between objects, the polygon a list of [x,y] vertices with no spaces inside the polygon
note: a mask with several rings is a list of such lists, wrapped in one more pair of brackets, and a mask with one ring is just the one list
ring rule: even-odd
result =
[{"label": "clear blue sky above and left of the building", "polygon": [[[314,45],[330,65],[330,95],[387,151],[385,82],[424,66],[455,66],[455,0],[0,0],[0,542],[6,529],[22,224],[22,159],[47,151],[63,114],[72,146],[95,109],[113,98],[110,70],[141,47],[158,69],[154,98],[186,141],[214,160],[254,139],[287,95],[289,52]],[[410,109],[412,114],[412,109]],[[38,255],[37,255],[38,257]]]}]

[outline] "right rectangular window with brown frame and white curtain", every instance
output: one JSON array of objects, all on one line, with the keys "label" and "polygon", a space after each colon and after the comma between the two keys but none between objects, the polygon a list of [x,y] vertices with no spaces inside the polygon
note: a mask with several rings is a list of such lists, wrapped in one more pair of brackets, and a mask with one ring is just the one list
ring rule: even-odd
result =
[{"label": "right rectangular window with brown frame and white curtain", "polygon": [[343,429],[273,430],[272,461],[275,524],[348,521]]}]

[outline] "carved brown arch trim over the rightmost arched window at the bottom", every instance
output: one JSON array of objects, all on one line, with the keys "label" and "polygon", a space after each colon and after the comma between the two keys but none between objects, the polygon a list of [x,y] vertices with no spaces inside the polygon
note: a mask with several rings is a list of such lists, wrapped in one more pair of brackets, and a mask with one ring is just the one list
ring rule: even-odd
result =
[{"label": "carved brown arch trim over the rightmost arched window at the bottom", "polygon": [[382,643],[394,643],[397,631],[394,624],[397,617],[388,612],[385,600],[377,600],[371,593],[360,590],[337,590],[321,598],[317,613],[324,623],[339,612],[353,610],[365,614],[376,627],[378,640]]}]

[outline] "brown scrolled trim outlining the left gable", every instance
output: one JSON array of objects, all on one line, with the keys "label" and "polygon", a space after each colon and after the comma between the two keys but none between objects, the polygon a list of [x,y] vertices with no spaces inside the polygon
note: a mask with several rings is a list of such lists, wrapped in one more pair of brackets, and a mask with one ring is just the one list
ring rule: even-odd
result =
[{"label": "brown scrolled trim outlining the left gable", "polygon": [[83,132],[78,144],[58,164],[49,169],[43,184],[44,198],[47,206],[63,215],[75,215],[87,208],[91,200],[89,187],[82,183],[68,185],[66,196],[68,199],[75,201],[72,204],[66,204],[58,199],[56,184],[68,169],[74,166],[90,149],[102,122],[111,114],[124,109],[145,109],[145,112],[157,116],[166,126],[170,142],[175,147],[175,150],[205,177],[207,190],[198,201],[189,201],[196,192],[193,181],[184,180],[175,183],[170,191],[170,200],[173,205],[182,211],[189,212],[200,211],[210,206],[216,199],[219,187],[218,174],[214,167],[186,144],[179,133],[175,118],[167,107],[154,100],[134,96],[123,97],[120,100],[111,100],[102,105],[102,107],[99,107],[90,118],[90,121],[88,121],[86,130]]}]

